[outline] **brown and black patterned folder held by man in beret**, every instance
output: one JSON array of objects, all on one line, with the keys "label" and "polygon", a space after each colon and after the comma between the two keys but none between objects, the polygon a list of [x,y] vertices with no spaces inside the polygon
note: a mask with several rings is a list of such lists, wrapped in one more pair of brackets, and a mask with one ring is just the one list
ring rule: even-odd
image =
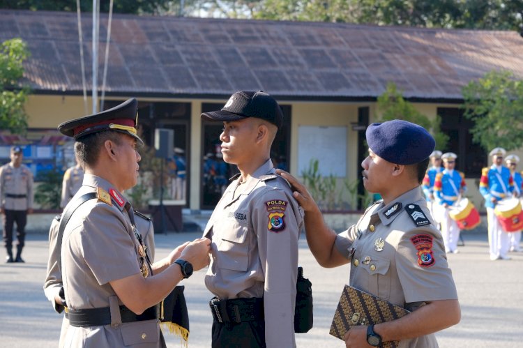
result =
[{"label": "brown and black patterned folder held by man in beret", "polygon": [[[378,324],[404,317],[408,313],[408,310],[399,305],[393,305],[379,297],[345,285],[329,333],[343,340],[343,336],[351,326]],[[379,347],[395,348],[397,345],[398,341],[388,341]]]}]

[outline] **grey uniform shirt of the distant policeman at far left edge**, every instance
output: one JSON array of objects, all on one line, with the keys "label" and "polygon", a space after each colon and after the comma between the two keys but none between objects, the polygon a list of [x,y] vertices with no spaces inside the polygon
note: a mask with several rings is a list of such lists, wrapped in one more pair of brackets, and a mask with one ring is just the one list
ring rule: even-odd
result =
[{"label": "grey uniform shirt of the distant policeman at far left edge", "polygon": [[[13,198],[8,195],[25,195]],[[0,207],[24,211],[33,208],[33,173],[26,165],[13,167],[9,162],[0,167]]]}]

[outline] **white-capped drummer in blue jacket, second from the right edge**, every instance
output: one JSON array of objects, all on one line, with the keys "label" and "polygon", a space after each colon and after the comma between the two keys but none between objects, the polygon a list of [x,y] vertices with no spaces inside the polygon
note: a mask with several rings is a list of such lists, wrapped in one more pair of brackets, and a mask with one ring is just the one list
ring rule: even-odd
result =
[{"label": "white-capped drummer in blue jacket, second from the right edge", "polygon": [[492,261],[510,259],[507,255],[510,249],[510,236],[501,227],[494,213],[498,202],[512,197],[514,192],[514,179],[510,169],[503,166],[505,155],[506,151],[501,147],[490,151],[492,165],[482,169],[480,178],[480,193],[485,198],[485,208],[487,208],[489,252]]}]

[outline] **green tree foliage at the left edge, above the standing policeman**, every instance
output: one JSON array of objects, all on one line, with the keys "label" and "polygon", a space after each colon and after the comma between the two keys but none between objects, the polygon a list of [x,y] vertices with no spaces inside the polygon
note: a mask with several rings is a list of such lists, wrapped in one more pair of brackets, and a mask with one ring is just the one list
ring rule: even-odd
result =
[{"label": "green tree foliage at the left edge, above the standing policeman", "polygon": [[27,128],[24,103],[29,89],[18,83],[24,75],[22,63],[28,56],[26,44],[20,38],[0,45],[0,129],[11,133],[24,133]]}]

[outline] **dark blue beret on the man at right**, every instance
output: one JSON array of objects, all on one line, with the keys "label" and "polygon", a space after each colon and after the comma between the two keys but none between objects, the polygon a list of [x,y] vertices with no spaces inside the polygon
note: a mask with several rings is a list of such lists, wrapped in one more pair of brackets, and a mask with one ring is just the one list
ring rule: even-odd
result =
[{"label": "dark blue beret on the man at right", "polygon": [[425,128],[403,120],[372,123],[365,135],[372,152],[397,165],[426,160],[436,146]]}]

